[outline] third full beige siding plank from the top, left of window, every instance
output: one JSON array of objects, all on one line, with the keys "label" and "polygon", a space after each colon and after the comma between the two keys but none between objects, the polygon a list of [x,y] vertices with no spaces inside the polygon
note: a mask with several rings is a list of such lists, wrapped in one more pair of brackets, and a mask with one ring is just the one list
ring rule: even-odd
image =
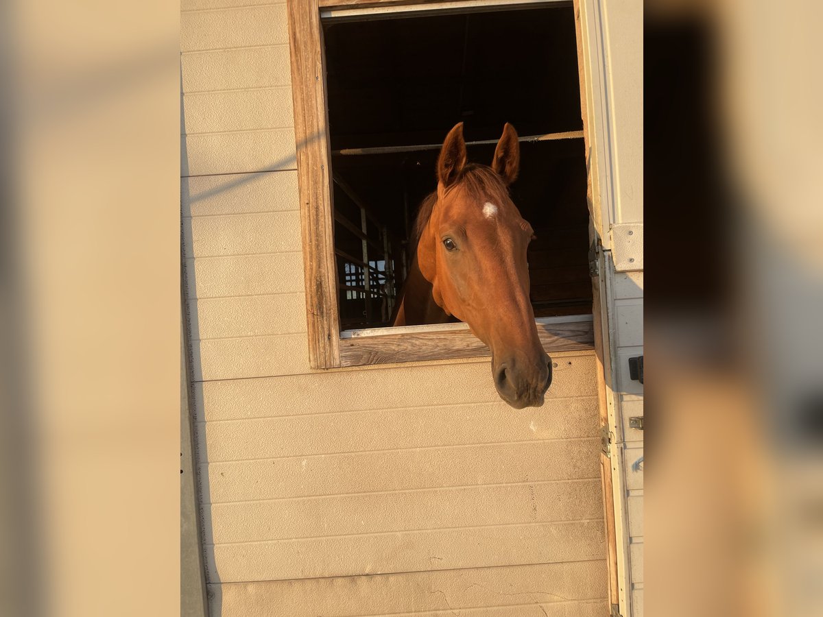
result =
[{"label": "third full beige siding plank from the top, left of window", "polygon": [[183,96],[181,134],[291,128],[291,86]]}]

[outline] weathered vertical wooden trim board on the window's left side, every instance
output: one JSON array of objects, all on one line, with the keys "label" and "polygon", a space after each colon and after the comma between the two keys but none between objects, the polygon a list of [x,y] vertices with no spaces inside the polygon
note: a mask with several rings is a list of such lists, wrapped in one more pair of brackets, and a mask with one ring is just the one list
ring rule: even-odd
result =
[{"label": "weathered vertical wooden trim board on the window's left side", "polygon": [[309,364],[340,366],[331,154],[318,0],[288,0]]}]

